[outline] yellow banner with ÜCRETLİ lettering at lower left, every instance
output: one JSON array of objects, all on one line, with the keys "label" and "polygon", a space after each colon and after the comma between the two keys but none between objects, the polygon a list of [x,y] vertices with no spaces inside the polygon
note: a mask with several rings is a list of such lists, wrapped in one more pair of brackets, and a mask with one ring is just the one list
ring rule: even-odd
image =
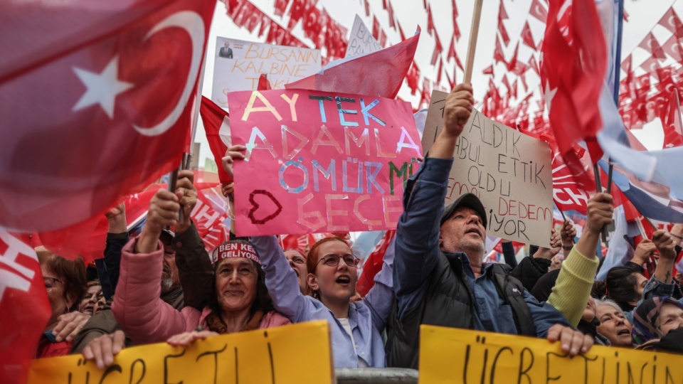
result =
[{"label": "yellow banner with \u00dcCRETL\u0130 lettering at lower left", "polygon": [[33,361],[28,383],[332,383],[327,321],[125,348],[99,370],[82,355]]}]

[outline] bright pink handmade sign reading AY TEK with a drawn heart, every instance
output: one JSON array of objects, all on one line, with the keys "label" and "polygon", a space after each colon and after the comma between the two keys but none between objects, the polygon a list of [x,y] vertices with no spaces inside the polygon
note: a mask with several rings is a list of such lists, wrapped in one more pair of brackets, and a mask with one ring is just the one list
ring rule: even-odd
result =
[{"label": "bright pink handmade sign reading AY TEK with a drawn heart", "polygon": [[408,102],[312,90],[228,93],[239,236],[396,228],[422,147]]}]

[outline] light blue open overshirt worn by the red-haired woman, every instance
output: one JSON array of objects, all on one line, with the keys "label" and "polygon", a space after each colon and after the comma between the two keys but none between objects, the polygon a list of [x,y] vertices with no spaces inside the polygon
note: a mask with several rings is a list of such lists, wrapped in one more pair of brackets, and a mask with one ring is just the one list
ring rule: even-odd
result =
[{"label": "light blue open overshirt worn by the red-haired woman", "polygon": [[[344,331],[344,327],[334,317],[332,311],[313,297],[304,296],[299,291],[297,274],[290,267],[285,253],[275,236],[251,238],[251,244],[258,252],[265,271],[265,284],[275,309],[287,316],[293,323],[311,320],[327,320],[332,329],[332,354],[334,366],[356,368],[362,358],[368,366],[385,367],[386,356],[382,331],[391,312],[393,287],[391,266],[393,252],[387,250],[382,270],[375,276],[375,284],[365,299],[349,306],[349,324],[354,341]],[[390,245],[391,247],[391,245]]]}]

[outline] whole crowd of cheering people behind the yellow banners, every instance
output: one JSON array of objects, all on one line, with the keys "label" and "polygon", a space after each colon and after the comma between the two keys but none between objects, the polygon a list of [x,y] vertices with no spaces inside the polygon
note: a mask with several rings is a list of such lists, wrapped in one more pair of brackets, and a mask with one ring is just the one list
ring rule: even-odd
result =
[{"label": "whole crowd of cheering people behind the yellow banners", "polygon": [[[128,346],[187,346],[319,319],[332,330],[336,367],[418,368],[420,324],[546,338],[571,356],[594,344],[682,351],[683,295],[673,272],[683,225],[658,230],[630,262],[595,281],[600,232],[613,217],[613,198],[600,192],[576,243],[566,221],[551,247],[535,247],[519,264],[514,255],[483,262],[487,214],[479,198],[467,193],[443,206],[473,103],[469,85],[448,95],[444,129],[406,185],[395,241],[364,297],[356,293],[359,258],[342,238],[299,252],[283,250],[276,236],[231,234],[207,252],[190,215],[194,176],[179,171],[175,191],[152,198],[139,236],[129,238],[124,206],[107,213],[96,273],[81,259],[38,250],[53,313],[36,358],[83,353],[104,368]],[[228,174],[244,151],[228,148]],[[231,210],[233,188],[223,186]],[[659,262],[647,279],[642,265],[655,251]]]}]

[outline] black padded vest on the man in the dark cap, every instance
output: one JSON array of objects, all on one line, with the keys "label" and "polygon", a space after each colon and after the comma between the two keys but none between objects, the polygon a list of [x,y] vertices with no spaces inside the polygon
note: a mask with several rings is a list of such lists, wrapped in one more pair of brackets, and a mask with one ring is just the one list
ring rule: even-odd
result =
[{"label": "black padded vest on the man in the dark cap", "polygon": [[[536,337],[521,282],[511,277],[508,265],[494,265],[492,278],[500,296],[512,307],[519,334]],[[424,299],[399,319],[396,305],[388,326],[387,366],[418,368],[420,324],[474,329],[475,309],[462,261],[456,254],[443,253],[433,270]]]}]

